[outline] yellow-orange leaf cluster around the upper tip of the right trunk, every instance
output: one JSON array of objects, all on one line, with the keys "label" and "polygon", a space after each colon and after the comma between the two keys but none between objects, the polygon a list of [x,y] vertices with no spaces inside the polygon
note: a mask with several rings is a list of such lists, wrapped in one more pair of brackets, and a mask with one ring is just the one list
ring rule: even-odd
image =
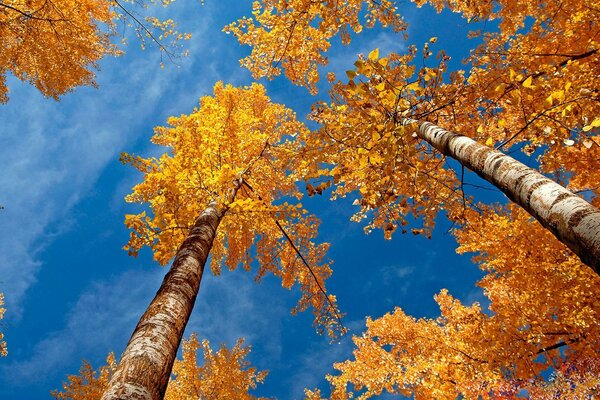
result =
[{"label": "yellow-orange leaf cluster around the upper tip of the right trunk", "polygon": [[354,219],[372,215],[366,230],[382,228],[386,238],[408,225],[409,214],[422,220],[413,233],[428,234],[442,208],[462,207],[455,173],[403,123],[439,84],[435,71],[416,70],[416,53],[412,47],[402,56],[380,57],[375,49],[359,58],[346,71],[347,83],[333,85],[332,102],[313,108],[311,118],[321,129],[302,138],[298,174],[332,179],[334,197],[357,193],[360,210]]}]

